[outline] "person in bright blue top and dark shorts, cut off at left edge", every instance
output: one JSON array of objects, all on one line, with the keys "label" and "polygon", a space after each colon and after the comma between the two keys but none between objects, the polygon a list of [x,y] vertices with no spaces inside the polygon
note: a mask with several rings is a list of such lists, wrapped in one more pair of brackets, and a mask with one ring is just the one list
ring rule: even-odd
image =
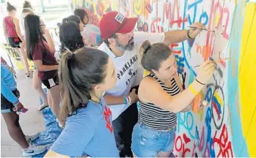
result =
[{"label": "person in bright blue top and dark shorts, cut off at left edge", "polygon": [[1,116],[7,124],[8,132],[13,140],[22,148],[23,157],[43,153],[45,146],[31,146],[29,143],[38,138],[39,133],[24,135],[17,114],[23,110],[23,104],[19,100],[20,92],[11,69],[1,57]]}]

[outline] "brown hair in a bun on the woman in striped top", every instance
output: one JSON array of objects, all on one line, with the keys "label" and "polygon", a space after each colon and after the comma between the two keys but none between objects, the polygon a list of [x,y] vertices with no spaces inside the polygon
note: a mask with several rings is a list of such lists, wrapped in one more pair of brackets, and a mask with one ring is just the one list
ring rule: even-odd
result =
[{"label": "brown hair in a bun on the woman in striped top", "polygon": [[153,45],[148,40],[142,43],[140,48],[142,55],[142,67],[150,71],[158,70],[162,61],[165,61],[172,54],[172,50],[164,43],[158,42]]}]

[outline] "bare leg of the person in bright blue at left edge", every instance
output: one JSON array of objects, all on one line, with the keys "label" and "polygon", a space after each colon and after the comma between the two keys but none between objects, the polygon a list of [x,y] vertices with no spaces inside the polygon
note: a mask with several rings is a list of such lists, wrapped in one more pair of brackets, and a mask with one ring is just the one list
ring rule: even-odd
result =
[{"label": "bare leg of the person in bright blue at left edge", "polygon": [[7,124],[8,132],[13,140],[18,143],[22,148],[28,148],[29,144],[26,142],[25,135],[19,124],[19,117],[17,113],[2,113],[5,123]]}]

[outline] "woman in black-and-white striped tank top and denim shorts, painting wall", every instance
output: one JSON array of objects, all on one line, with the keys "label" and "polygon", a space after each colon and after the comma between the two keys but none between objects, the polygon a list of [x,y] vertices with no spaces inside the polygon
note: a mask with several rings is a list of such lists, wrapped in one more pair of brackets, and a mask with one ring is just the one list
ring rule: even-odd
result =
[{"label": "woman in black-and-white striped tank top and denim shorts, painting wall", "polygon": [[185,110],[213,75],[215,63],[205,61],[197,78],[184,89],[175,56],[164,43],[142,44],[142,66],[150,75],[139,85],[139,121],[134,126],[134,157],[169,157],[175,142],[177,114]]}]

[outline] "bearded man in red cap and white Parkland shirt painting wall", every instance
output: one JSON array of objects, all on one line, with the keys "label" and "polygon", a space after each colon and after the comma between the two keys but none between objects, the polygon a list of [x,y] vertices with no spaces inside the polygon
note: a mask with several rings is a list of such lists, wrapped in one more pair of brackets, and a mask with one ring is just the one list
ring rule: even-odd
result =
[{"label": "bearded man in red cap and white Parkland shirt painting wall", "polygon": [[112,111],[114,136],[120,157],[132,157],[131,134],[138,121],[138,110],[134,86],[142,80],[143,68],[139,48],[142,42],[164,42],[166,45],[197,37],[202,23],[192,26],[199,29],[173,30],[164,33],[134,32],[138,18],[127,18],[120,12],[107,12],[100,20],[100,34],[104,42],[98,49],[105,51],[117,69],[117,84],[106,91],[104,98]]}]

